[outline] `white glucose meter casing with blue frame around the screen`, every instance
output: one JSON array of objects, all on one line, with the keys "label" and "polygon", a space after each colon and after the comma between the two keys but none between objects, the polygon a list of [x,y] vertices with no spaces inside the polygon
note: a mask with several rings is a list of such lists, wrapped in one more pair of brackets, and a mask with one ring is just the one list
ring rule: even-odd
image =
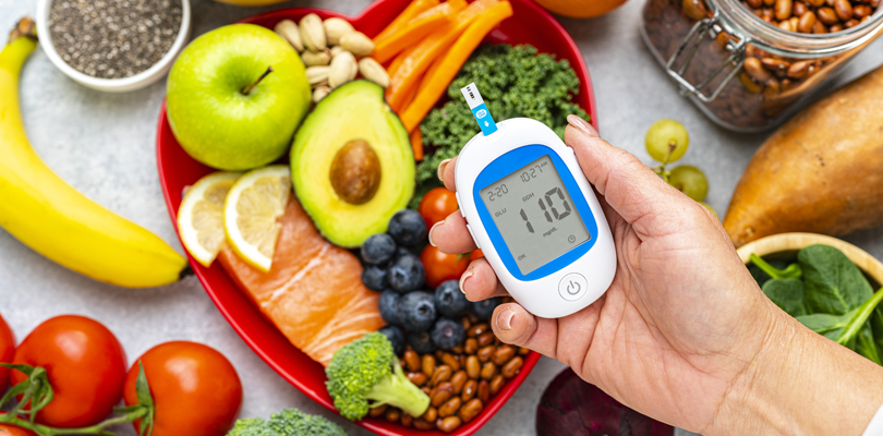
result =
[{"label": "white glucose meter casing with blue frame around the screen", "polygon": [[[497,123],[497,128],[498,130],[489,135],[476,134],[467,143],[457,158],[455,181],[460,213],[467,220],[467,228],[472,239],[484,252],[485,258],[496,272],[500,283],[519,304],[532,314],[544,318],[559,318],[573,314],[604,294],[616,274],[616,249],[607,219],[601,209],[594,190],[577,161],[573,149],[566,146],[555,132],[545,124],[527,118],[501,121]],[[532,145],[545,146],[551,153],[558,155],[560,158],[558,161],[564,162],[564,166],[567,167],[566,170],[569,170],[579,186],[580,192],[568,190],[570,197],[574,203],[580,195],[584,197],[591,216],[581,213],[581,218],[588,228],[592,228],[590,220],[593,220],[596,229],[594,229],[594,234],[590,234],[588,241],[570,249],[548,264],[553,262],[561,264],[558,261],[568,257],[568,253],[577,252],[579,246],[591,243],[588,252],[576,259],[561,264],[560,267],[555,266],[551,270],[545,268],[547,274],[544,272],[543,277],[525,280],[525,275],[512,268],[512,255],[504,252],[509,250],[506,243],[499,238],[492,238],[488,234],[489,231],[499,234],[499,230],[487,228],[487,226],[496,225],[487,218],[487,215],[484,220],[482,219],[479,207],[485,208],[486,206],[476,203],[482,199],[475,198],[475,193],[485,189],[485,186],[476,186],[476,181],[482,171],[492,162],[510,152]],[[555,168],[564,177],[563,173],[566,170],[559,166],[555,165]],[[519,168],[507,169],[501,177],[518,170]],[[494,177],[496,180],[493,182],[499,181],[501,177]],[[486,177],[482,179],[487,180]],[[486,183],[482,182],[482,184]],[[584,211],[584,208],[581,211]],[[501,256],[509,256],[508,267]],[[531,276],[531,274],[527,276]]]}]

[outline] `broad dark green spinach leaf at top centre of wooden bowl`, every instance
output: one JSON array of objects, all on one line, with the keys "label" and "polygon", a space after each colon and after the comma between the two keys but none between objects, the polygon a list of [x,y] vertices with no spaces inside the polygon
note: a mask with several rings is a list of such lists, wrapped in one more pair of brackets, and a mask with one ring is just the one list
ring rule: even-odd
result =
[{"label": "broad dark green spinach leaf at top centre of wooden bowl", "polygon": [[861,270],[839,250],[815,244],[801,250],[797,259],[803,270],[809,313],[842,315],[873,294]]}]

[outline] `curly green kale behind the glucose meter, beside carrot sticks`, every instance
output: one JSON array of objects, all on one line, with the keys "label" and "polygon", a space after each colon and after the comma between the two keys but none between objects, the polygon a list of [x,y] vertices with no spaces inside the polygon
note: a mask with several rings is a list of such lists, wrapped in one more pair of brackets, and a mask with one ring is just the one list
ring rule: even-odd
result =
[{"label": "curly green kale behind the glucose meter, beside carrot sticks", "polygon": [[436,179],[444,159],[457,156],[467,142],[479,133],[479,125],[462,101],[460,88],[475,82],[488,110],[496,120],[527,117],[548,125],[564,137],[567,116],[589,119],[579,105],[571,102],[580,81],[570,63],[552,55],[537,55],[532,46],[485,45],[475,50],[448,86],[450,101],[433,109],[423,120],[423,144],[436,148],[418,165],[418,183]]}]

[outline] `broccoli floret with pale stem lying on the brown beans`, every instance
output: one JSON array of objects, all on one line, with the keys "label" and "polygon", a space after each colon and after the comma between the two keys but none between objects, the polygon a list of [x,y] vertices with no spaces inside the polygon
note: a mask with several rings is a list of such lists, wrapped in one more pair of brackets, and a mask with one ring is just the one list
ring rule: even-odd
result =
[{"label": "broccoli floret with pale stem lying on the brown beans", "polygon": [[367,334],[337,350],[325,374],[335,407],[352,421],[380,404],[397,407],[411,416],[422,415],[430,407],[430,397],[404,376],[383,334]]}]

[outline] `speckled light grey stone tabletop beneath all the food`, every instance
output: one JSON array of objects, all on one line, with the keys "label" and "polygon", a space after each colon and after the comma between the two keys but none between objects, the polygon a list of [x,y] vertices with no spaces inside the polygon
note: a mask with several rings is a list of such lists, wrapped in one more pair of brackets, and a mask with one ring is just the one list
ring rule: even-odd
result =
[{"label": "speckled light grey stone tabletop beneath all the food", "polygon": [[[368,2],[300,0],[239,8],[193,0],[193,35],[270,9],[318,7],[355,14]],[[709,203],[723,215],[739,175],[765,134],[722,130],[678,97],[639,36],[642,4],[643,0],[629,0],[594,20],[561,19],[592,74],[602,136],[650,162],[643,146],[648,126],[660,118],[680,120],[691,136],[684,161],[701,167],[709,175]],[[36,0],[0,0],[0,29],[11,28],[19,17],[35,12]],[[883,63],[881,49],[883,41],[864,50],[840,82]],[[162,202],[154,155],[165,81],[133,93],[104,94],[72,82],[37,50],[25,65],[21,93],[32,143],[55,171],[98,203],[181,250]],[[858,232],[846,240],[883,257],[883,229]],[[130,362],[160,342],[204,342],[226,354],[239,371],[245,390],[241,416],[268,416],[297,407],[330,417],[351,435],[367,434],[313,403],[265,365],[230,328],[195,278],[160,289],[114,288],[53,264],[0,229],[0,313],[19,340],[55,315],[94,317],[117,334]],[[561,368],[561,364],[543,359],[479,435],[534,434],[536,402]],[[134,435],[128,426],[120,432]]]}]

